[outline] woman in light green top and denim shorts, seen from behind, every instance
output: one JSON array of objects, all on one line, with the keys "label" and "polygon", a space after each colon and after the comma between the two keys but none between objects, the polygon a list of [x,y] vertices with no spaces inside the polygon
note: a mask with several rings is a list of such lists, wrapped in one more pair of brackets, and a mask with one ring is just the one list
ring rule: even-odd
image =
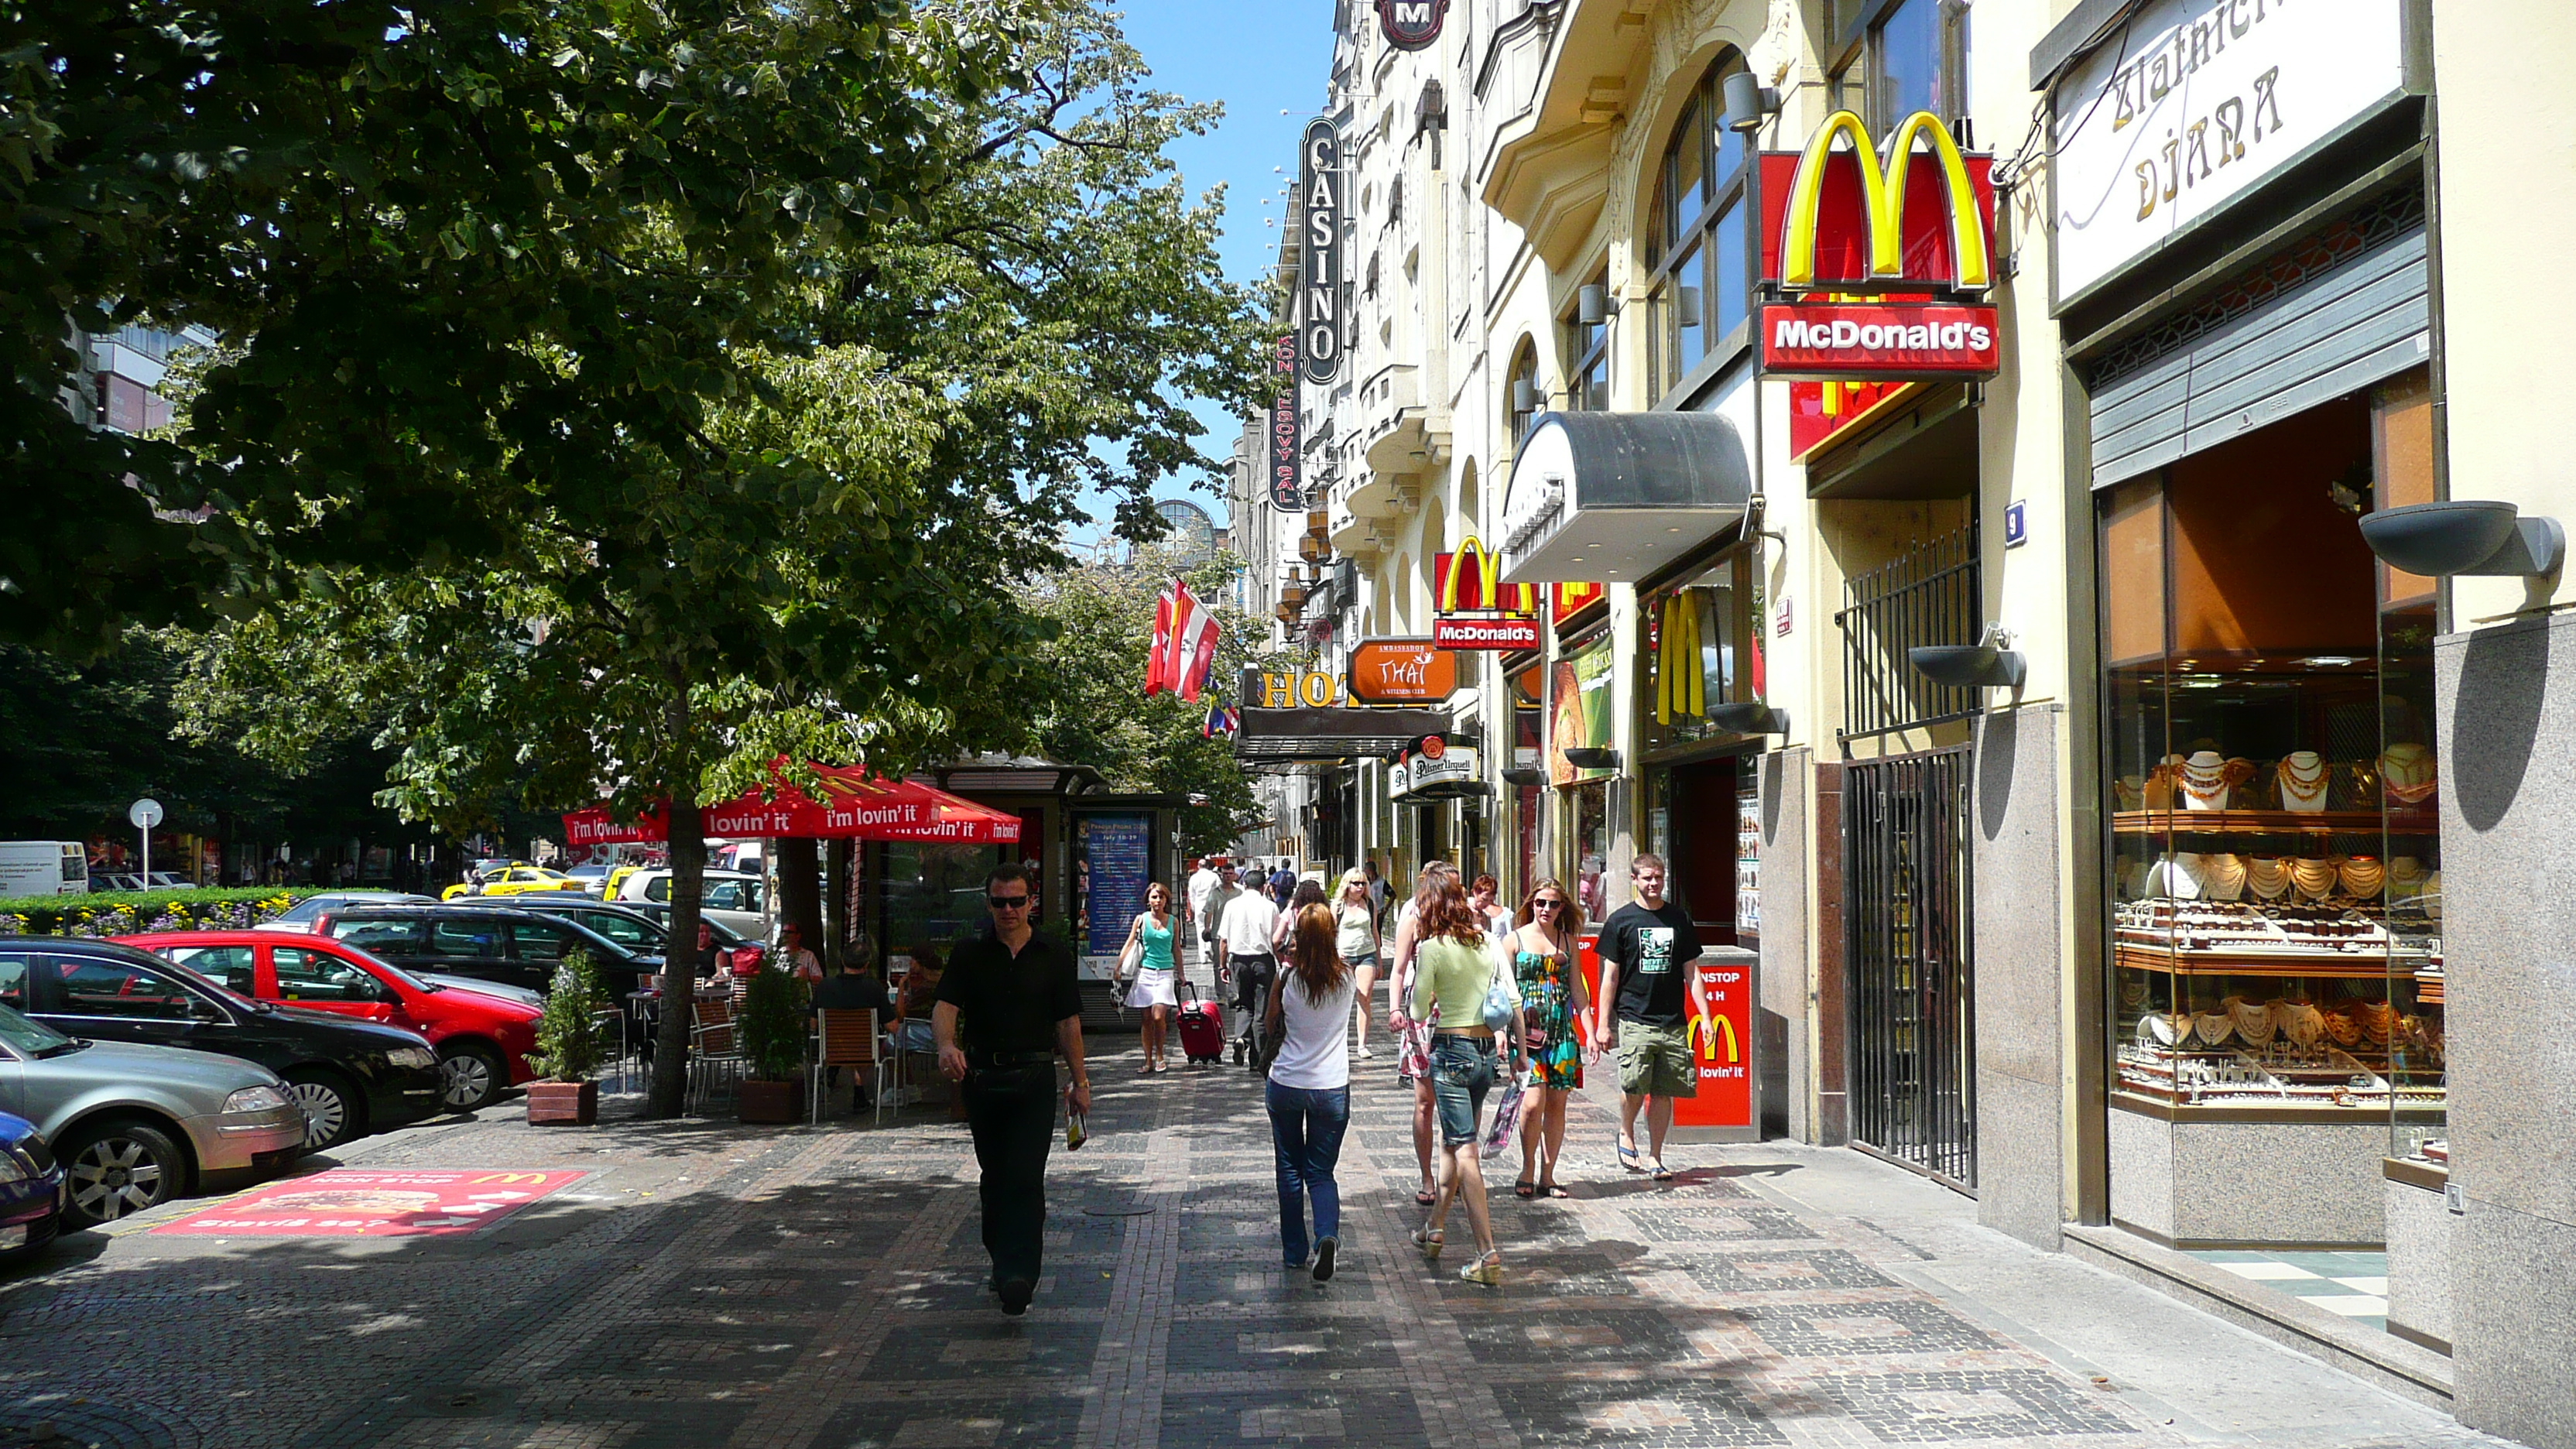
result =
[{"label": "woman in light green top and denim shorts, seen from behind", "polygon": [[[1466,900],[1466,887],[1455,874],[1443,874],[1414,913],[1412,995],[1406,1011],[1414,1021],[1432,1026],[1432,1104],[1440,1116],[1440,1150],[1448,1152],[1448,1171],[1440,1173],[1440,1196],[1432,1217],[1414,1232],[1414,1245],[1425,1258],[1440,1256],[1443,1222],[1450,1199],[1466,1199],[1466,1222],[1476,1232],[1476,1261],[1458,1271],[1471,1284],[1502,1284],[1502,1253],[1494,1250],[1494,1222],[1484,1207],[1484,1168],[1476,1163],[1476,1114],[1484,1111],[1484,1093],[1494,1085],[1497,1042],[1484,1021],[1486,995],[1510,1003],[1512,1021],[1520,1018],[1520,987],[1512,982],[1494,944],[1484,933],[1484,920]],[[1510,1024],[1507,1024],[1510,1026]],[[1512,1049],[1512,1070],[1528,1070],[1520,1031],[1504,1031]]]}]

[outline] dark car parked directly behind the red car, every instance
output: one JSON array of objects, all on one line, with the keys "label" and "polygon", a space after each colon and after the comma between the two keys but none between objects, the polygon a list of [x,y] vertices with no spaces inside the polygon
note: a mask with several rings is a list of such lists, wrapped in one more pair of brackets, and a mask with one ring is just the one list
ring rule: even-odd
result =
[{"label": "dark car parked directly behind the red car", "polygon": [[623,998],[641,977],[662,972],[659,951],[634,951],[598,931],[515,905],[353,905],[325,910],[314,936],[363,946],[407,972],[489,980],[544,993],[554,967],[572,951],[590,951],[600,985]]}]

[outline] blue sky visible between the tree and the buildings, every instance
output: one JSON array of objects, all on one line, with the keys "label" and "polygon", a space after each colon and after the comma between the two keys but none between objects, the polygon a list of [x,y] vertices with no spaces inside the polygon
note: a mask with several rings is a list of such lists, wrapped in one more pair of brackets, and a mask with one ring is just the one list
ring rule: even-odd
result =
[{"label": "blue sky visible between the tree and the buildings", "polygon": [[[1278,229],[1262,227],[1280,214],[1273,168],[1296,157],[1296,137],[1324,101],[1332,0],[1128,0],[1123,13],[1157,90],[1226,103],[1216,131],[1185,137],[1172,155],[1190,191],[1226,183],[1221,253],[1226,276],[1247,281],[1278,242]],[[1208,425],[1200,451],[1226,456],[1242,423],[1208,405],[1198,415]],[[1208,492],[1170,482],[1157,495],[1190,498],[1218,516],[1218,529],[1226,523]]]}]

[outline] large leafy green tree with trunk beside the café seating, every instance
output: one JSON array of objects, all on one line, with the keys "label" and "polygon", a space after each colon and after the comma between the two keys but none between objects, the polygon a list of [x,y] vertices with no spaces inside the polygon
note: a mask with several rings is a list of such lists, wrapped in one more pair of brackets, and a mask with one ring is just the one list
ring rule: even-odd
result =
[{"label": "large leafy green tree with trunk beside the caf\u00e9 seating", "polygon": [[[276,603],[209,642],[191,727],[283,758],[376,722],[397,750],[386,799],[451,830],[495,799],[670,802],[680,941],[703,869],[696,804],[765,784],[770,758],[902,771],[1015,743],[1046,634],[1018,585],[1064,562],[1087,490],[1136,518],[1157,480],[1216,467],[1177,397],[1252,402],[1260,327],[1216,268],[1213,206],[1164,157],[1213,113],[1144,90],[1087,3],[1007,18],[969,26],[925,3],[896,26],[902,54],[871,57],[896,70],[902,124],[873,111],[873,72],[791,137],[734,113],[793,108],[811,77],[788,62],[848,59],[814,57],[817,21],[793,5],[744,8],[726,80],[690,80],[739,129],[690,144],[889,144],[922,157],[907,191],[775,183],[752,217],[737,188],[770,175],[762,157],[711,211],[688,188],[649,191],[626,227],[544,258],[479,222],[438,229],[435,255],[417,227],[379,232],[425,273],[533,271],[507,297],[549,322],[513,320],[500,345],[440,333],[399,366],[361,353],[361,415],[325,405],[322,376],[299,371],[314,353],[278,353],[268,327],[214,366],[180,436],[227,459],[227,487],[273,474],[337,492],[227,492],[222,526],[258,547],[234,580]],[[1007,64],[979,59],[987,31],[1007,36]],[[611,64],[551,18],[546,44],[562,44],[551,70]],[[696,113],[657,101],[634,124],[652,150]],[[528,144],[513,170],[559,165]],[[330,340],[343,320],[299,302],[278,327]],[[410,531],[430,511],[440,521]],[[657,1111],[680,1106],[685,1029],[665,1013]]]}]

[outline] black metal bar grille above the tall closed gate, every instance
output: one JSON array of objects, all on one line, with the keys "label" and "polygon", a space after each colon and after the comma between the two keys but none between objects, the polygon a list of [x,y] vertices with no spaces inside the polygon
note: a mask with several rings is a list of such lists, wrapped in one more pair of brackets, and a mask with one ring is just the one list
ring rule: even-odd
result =
[{"label": "black metal bar grille above the tall closed gate", "polygon": [[1917,645],[1973,645],[1984,634],[1976,523],[1844,580],[1842,730],[1868,740],[1976,714],[1978,691],[1940,686],[1906,657]]}]

